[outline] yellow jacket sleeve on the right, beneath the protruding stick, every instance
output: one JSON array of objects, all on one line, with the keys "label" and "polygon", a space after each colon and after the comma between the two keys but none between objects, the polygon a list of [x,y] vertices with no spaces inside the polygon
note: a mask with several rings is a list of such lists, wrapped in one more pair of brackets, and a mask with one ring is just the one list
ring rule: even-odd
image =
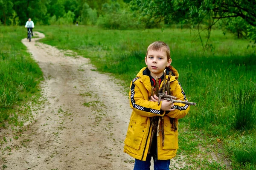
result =
[{"label": "yellow jacket sleeve on the right, beneath the protruding stick", "polygon": [[[177,97],[178,100],[188,101],[186,98],[186,94],[183,91],[183,88],[181,87],[180,82],[178,80],[175,91],[173,92],[172,95]],[[173,108],[175,108],[175,111],[170,111],[169,113],[166,113],[166,115],[175,119],[183,118],[190,110],[189,105],[182,103],[174,103]]]}]

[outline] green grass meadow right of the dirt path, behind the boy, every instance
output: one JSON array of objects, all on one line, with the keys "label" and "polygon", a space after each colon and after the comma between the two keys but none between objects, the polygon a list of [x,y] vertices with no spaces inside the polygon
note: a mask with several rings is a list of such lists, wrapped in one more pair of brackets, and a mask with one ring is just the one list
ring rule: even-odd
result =
[{"label": "green grass meadow right of the dirt path, behind the boy", "polygon": [[[187,131],[191,131],[188,136],[180,134],[180,146],[186,162],[198,154],[207,156],[205,150],[196,152],[200,147],[215,152],[218,146],[216,139],[220,139],[223,147],[218,151],[224,157],[230,156],[234,169],[256,169],[252,159],[244,161],[246,154],[255,153],[253,142],[247,142],[248,147],[244,150],[236,144],[242,136],[255,139],[256,127],[253,125],[245,132],[236,130],[236,109],[232,105],[240,90],[251,88],[254,91],[256,88],[256,48],[248,40],[212,30],[209,48],[204,51],[201,42],[195,42],[197,31],[189,29],[126,31],[85,26],[40,26],[37,30],[46,34],[42,42],[89,57],[98,71],[112,73],[122,79],[126,90],[131,79],[145,66],[148,45],[157,40],[166,42],[171,49],[172,65],[179,71],[179,80],[186,95],[190,101],[198,103],[191,107],[184,119],[180,119],[181,125],[189,126]],[[202,38],[205,42],[204,34]],[[253,107],[252,113],[255,113],[255,104]],[[203,139],[197,141],[193,138],[194,132],[200,132],[197,135]],[[182,137],[188,139],[183,140]],[[232,145],[230,141],[233,141]],[[191,148],[195,148],[195,152],[191,152]],[[224,168],[208,159],[195,159],[195,162],[203,169]]]}]

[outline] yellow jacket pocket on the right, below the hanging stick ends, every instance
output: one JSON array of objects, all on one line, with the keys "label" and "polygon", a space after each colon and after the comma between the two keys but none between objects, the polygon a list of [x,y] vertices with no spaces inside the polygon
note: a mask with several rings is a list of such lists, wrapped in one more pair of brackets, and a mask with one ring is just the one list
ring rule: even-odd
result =
[{"label": "yellow jacket pocket on the right, below the hanging stick ends", "polygon": [[178,131],[172,130],[171,124],[164,124],[164,146],[163,150],[173,150],[178,148]]}]

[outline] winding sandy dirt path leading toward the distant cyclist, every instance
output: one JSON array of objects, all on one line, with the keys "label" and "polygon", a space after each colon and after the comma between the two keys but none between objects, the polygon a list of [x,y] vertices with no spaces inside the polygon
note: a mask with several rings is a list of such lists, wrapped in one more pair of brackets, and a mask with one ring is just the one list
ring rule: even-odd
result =
[{"label": "winding sandy dirt path leading toward the distant cyclist", "polygon": [[72,57],[38,39],[22,42],[44,73],[47,102],[35,111],[37,122],[12,142],[12,154],[4,155],[6,169],[133,169],[133,159],[123,153],[131,108],[122,87],[93,71],[89,59]]}]

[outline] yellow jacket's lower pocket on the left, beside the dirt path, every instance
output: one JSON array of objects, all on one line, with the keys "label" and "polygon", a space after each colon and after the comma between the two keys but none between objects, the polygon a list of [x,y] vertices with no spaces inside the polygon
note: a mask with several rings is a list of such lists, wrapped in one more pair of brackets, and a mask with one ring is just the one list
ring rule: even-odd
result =
[{"label": "yellow jacket's lower pocket on the left, beside the dirt path", "polygon": [[138,150],[140,148],[143,136],[145,135],[145,131],[146,126],[132,123],[129,125],[124,143],[129,147]]}]

